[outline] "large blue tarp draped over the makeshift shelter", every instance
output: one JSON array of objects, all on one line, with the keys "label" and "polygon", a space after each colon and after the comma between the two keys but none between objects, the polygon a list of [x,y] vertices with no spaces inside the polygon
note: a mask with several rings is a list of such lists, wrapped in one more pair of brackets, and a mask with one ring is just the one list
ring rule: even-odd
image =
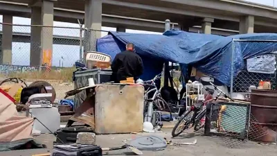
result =
[{"label": "large blue tarp draped over the makeshift shelter", "polygon": [[141,55],[147,67],[142,76],[144,80],[161,72],[163,61],[167,60],[179,63],[184,70],[186,64],[191,64],[220,82],[230,85],[232,51],[233,74],[236,76],[238,71],[244,68],[244,59],[277,49],[276,42],[232,42],[233,39],[277,40],[277,35],[259,33],[222,37],[184,31],[167,31],[163,35],[110,32],[97,41],[96,50],[114,58],[116,53],[125,49],[127,42],[134,43],[136,52]]}]

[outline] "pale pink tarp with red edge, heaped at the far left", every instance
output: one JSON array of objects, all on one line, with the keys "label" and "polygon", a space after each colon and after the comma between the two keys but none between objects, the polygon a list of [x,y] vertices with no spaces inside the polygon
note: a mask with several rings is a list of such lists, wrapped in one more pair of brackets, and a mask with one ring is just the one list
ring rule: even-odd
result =
[{"label": "pale pink tarp with red edge, heaped at the far left", "polygon": [[31,136],[34,119],[19,116],[15,100],[2,89],[0,99],[0,151],[43,148]]}]

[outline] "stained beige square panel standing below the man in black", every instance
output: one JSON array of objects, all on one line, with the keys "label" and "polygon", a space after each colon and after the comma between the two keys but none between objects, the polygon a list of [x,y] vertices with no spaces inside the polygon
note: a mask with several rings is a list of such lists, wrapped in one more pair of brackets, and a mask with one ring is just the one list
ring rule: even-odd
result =
[{"label": "stained beige square panel standing below the man in black", "polygon": [[143,94],[141,85],[97,86],[96,134],[142,132]]}]

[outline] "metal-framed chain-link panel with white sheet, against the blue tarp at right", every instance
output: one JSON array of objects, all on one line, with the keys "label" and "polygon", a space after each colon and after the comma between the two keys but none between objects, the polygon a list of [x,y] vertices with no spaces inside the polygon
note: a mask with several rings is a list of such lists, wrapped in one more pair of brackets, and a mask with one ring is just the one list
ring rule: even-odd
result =
[{"label": "metal-framed chain-link panel with white sheet, against the blue tarp at right", "polygon": [[[267,51],[267,49],[276,49],[271,51],[271,54],[259,55],[253,58],[244,60],[244,67],[235,76],[231,78],[231,92],[235,93],[248,93],[249,87],[258,87],[260,80],[269,81],[271,83],[271,89],[276,89],[277,72],[276,72],[276,60],[277,46],[274,41],[256,41],[256,40],[234,40],[234,49],[240,48],[248,43],[255,43],[255,46],[261,46],[260,51]],[[251,44],[253,45],[253,44]],[[276,46],[276,47],[275,47]],[[235,53],[233,51],[233,53]],[[235,54],[234,54],[235,55]],[[233,60],[232,60],[233,61]],[[232,66],[235,67],[235,63],[232,62]]]}]

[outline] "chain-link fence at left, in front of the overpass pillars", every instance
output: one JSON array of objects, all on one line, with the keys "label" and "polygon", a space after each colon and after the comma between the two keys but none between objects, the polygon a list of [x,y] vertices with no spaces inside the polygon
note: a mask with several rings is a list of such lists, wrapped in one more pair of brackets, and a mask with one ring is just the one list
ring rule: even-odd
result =
[{"label": "chain-link fence at left, in front of the overpass pillars", "polygon": [[[96,51],[99,37],[101,31],[82,26],[0,24],[0,78],[46,80],[53,84],[57,98],[64,98],[64,92],[73,89],[75,62],[84,62],[84,51]],[[41,70],[44,65],[51,70]]]}]

